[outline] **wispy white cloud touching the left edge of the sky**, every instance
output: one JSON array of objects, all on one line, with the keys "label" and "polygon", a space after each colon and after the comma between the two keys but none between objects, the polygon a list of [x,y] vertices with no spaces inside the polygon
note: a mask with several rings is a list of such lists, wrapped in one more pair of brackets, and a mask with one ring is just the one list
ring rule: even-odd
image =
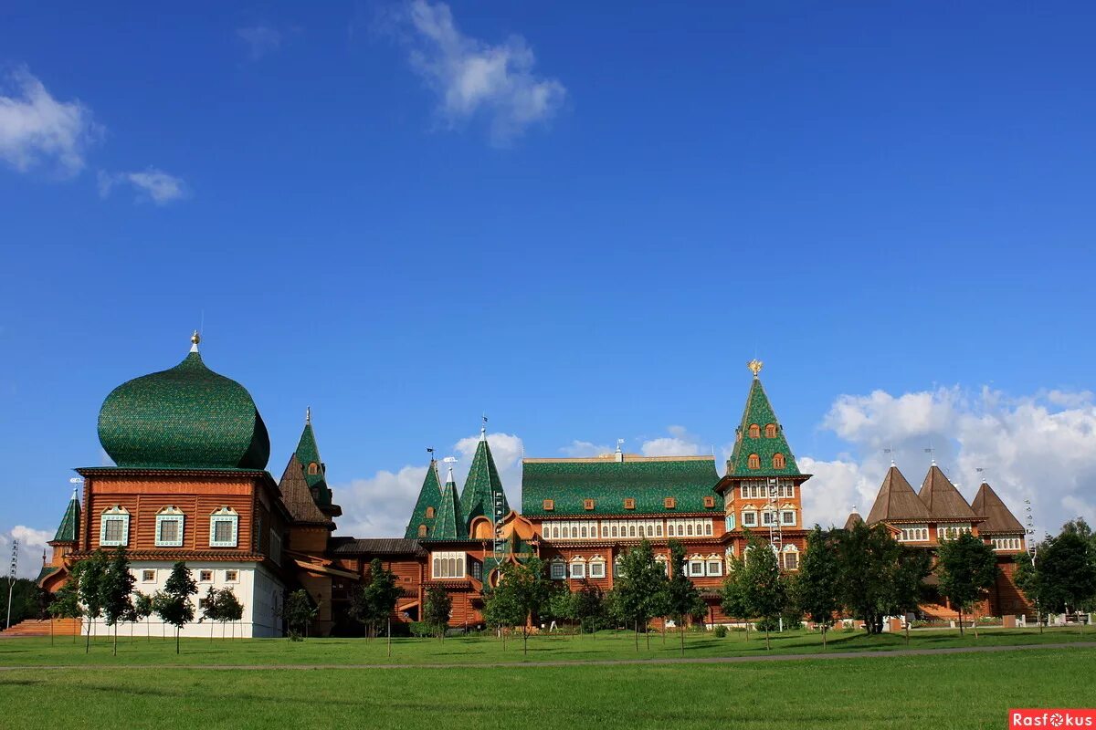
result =
[{"label": "wispy white cloud touching the left edge of the sky", "polygon": [[101,134],[91,111],[76,100],[58,102],[25,68],[10,73],[4,86],[0,86],[0,159],[19,172],[45,165],[65,176],[79,173],[84,149]]}]

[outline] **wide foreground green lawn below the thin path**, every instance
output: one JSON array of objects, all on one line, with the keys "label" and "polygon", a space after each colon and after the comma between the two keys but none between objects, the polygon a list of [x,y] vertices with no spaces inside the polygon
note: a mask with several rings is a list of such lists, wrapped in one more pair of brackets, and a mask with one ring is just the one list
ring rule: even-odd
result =
[{"label": "wide foreground green lawn below the thin path", "polygon": [[31,669],[0,672],[0,727],[998,729],[1009,707],[1092,706],[1094,663],[1096,649],[1071,648],[470,670]]}]

